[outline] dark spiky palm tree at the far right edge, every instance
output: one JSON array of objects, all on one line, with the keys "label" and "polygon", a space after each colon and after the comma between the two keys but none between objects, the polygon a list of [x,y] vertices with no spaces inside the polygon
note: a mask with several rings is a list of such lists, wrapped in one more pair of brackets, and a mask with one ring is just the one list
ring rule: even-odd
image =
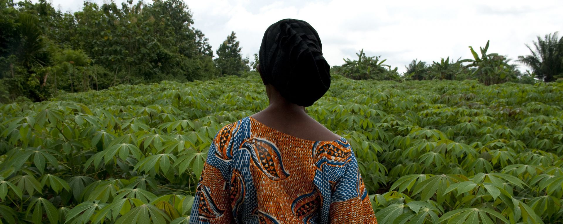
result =
[{"label": "dark spiky palm tree at the far right edge", "polygon": [[563,76],[563,37],[557,39],[557,32],[547,34],[543,39],[533,41],[534,49],[526,44],[531,55],[518,56],[518,61],[530,66],[535,77],[544,82],[553,82]]}]

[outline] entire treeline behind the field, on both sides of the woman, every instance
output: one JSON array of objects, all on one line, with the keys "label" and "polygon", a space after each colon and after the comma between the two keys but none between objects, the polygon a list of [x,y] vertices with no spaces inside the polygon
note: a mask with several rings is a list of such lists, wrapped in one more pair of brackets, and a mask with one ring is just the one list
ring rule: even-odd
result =
[{"label": "entire treeline behind the field, on both sides of the woman", "polygon": [[[41,101],[61,92],[104,89],[118,84],[205,80],[241,75],[257,64],[243,58],[235,33],[213,55],[181,0],[155,0],[118,6],[84,2],[82,10],[61,12],[50,3],[0,0],[0,102]],[[551,82],[563,77],[563,38],[538,37],[531,55],[517,62],[530,66],[521,73],[510,59],[471,48],[473,59],[432,64],[413,60],[406,72],[383,64],[381,56],[358,53],[357,60],[333,66],[351,79],[477,79],[485,84]]]}]

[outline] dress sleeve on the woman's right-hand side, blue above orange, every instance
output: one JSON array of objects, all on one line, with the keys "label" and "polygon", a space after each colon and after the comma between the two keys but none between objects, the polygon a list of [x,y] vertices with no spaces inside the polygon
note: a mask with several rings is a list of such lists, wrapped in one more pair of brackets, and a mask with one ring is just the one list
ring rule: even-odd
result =
[{"label": "dress sleeve on the woman's right-hand side, blue above orange", "polygon": [[345,165],[344,174],[334,184],[330,199],[329,223],[377,224],[354,151],[351,151],[350,161]]}]

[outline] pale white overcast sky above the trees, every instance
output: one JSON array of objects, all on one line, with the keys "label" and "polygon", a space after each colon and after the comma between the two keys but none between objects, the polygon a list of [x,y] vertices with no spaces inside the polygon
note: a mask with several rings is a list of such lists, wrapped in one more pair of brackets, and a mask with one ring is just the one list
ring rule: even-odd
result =
[{"label": "pale white overcast sky above the trees", "polygon": [[[63,11],[77,11],[83,2],[51,1]],[[343,58],[354,59],[363,48],[368,56],[381,55],[387,59],[385,64],[398,67],[400,72],[413,59],[431,64],[441,57],[470,58],[468,46],[479,52],[488,40],[490,53],[507,55],[514,61],[529,53],[524,44],[531,44],[537,35],[563,31],[561,0],[184,1],[193,14],[194,27],[209,38],[213,51],[234,31],[243,57],[251,61],[266,28],[285,18],[305,20],[317,30],[330,66],[341,65]]]}]

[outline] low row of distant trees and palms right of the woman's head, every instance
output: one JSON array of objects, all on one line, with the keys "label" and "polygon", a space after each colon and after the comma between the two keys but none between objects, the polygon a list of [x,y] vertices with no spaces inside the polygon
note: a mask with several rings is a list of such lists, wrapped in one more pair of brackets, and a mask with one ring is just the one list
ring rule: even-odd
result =
[{"label": "low row of distant trees and palms right of the woman's head", "polygon": [[378,79],[378,80],[464,80],[476,79],[485,85],[504,82],[533,84],[535,82],[553,82],[563,78],[563,38],[558,39],[557,32],[548,34],[544,38],[537,37],[533,46],[526,46],[530,55],[518,56],[517,62],[531,68],[522,73],[517,64],[511,62],[507,56],[498,53],[488,53],[489,42],[485,47],[480,47],[477,53],[469,47],[472,59],[458,59],[454,61],[449,57],[440,61],[427,64],[417,59],[405,66],[404,74],[397,73],[397,68],[391,69],[390,65],[383,64],[381,56],[366,56],[361,50],[357,60],[345,59],[345,64],[333,66],[333,72],[342,74],[351,79]]}]

